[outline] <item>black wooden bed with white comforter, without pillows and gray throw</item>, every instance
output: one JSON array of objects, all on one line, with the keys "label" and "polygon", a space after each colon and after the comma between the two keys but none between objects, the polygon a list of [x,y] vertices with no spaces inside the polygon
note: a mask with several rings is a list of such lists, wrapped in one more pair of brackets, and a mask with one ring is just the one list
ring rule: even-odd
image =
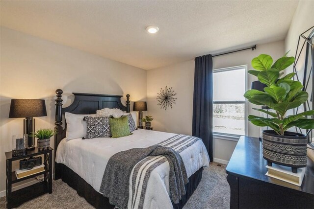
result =
[{"label": "black wooden bed with white comforter, without pillows and gray throw", "polygon": [[[105,107],[118,108],[130,113],[130,95],[127,94],[126,106],[124,106],[121,102],[121,95],[73,93],[75,96],[73,103],[62,108],[62,93],[62,90],[56,90],[55,126],[58,134],[54,140],[55,180],[62,179],[95,208],[113,209],[115,206],[111,205],[109,199],[99,191],[105,166],[110,156],[135,147],[147,147],[158,143],[171,144],[171,140],[183,140],[187,145],[176,147],[182,156],[189,180],[185,185],[186,194],[183,195],[182,200],[178,204],[174,204],[169,198],[169,183],[167,182],[169,163],[164,162],[159,163],[151,171],[149,179],[145,184],[143,183],[144,186],[136,191],[143,195],[137,195],[132,191],[132,181],[135,181],[135,174],[132,171],[133,180],[130,177],[128,204],[128,208],[183,208],[202,178],[203,167],[209,165],[209,157],[201,140],[191,136],[137,129],[132,132],[131,136],[117,139],[82,140],[78,138],[67,141],[67,123],[65,122],[64,128],[62,127],[65,113],[95,114],[97,110]],[[169,139],[170,142],[168,142]]]}]

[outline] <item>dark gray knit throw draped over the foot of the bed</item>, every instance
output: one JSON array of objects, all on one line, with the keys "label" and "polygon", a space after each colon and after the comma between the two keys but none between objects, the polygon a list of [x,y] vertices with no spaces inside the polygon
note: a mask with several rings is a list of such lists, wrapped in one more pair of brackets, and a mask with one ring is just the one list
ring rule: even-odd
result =
[{"label": "dark gray knit throw draped over the foot of the bed", "polygon": [[147,156],[157,155],[163,155],[169,162],[170,199],[173,203],[178,204],[185,195],[184,185],[188,183],[185,166],[178,152],[161,145],[133,148],[114,154],[105,168],[100,192],[109,198],[110,204],[120,209],[127,209],[132,168]]}]

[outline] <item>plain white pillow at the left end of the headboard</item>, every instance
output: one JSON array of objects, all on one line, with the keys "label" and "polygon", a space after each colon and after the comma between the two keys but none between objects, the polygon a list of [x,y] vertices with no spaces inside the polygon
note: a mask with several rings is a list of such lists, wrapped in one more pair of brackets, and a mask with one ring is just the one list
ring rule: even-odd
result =
[{"label": "plain white pillow at the left end of the headboard", "polygon": [[67,132],[65,134],[67,141],[71,139],[83,138],[86,136],[87,124],[83,120],[85,116],[96,116],[91,115],[77,115],[72,113],[65,113],[65,120],[67,123]]}]

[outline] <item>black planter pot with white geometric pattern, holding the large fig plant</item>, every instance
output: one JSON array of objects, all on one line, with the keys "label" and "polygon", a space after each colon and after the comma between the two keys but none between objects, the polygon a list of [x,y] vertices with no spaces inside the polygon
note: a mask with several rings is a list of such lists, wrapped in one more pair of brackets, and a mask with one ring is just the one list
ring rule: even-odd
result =
[{"label": "black planter pot with white geometric pattern, holding the large fig plant", "polygon": [[307,142],[304,134],[287,131],[285,136],[280,136],[273,130],[262,131],[263,158],[269,166],[272,163],[285,165],[297,173],[298,167],[307,164]]}]

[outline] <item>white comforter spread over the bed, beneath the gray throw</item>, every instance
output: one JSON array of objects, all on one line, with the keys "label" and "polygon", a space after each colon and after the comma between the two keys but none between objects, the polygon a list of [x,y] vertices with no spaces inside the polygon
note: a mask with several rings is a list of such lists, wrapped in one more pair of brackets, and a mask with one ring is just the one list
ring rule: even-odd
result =
[{"label": "white comforter spread over the bed, beneath the gray throw", "polygon": [[[135,147],[148,147],[173,136],[175,134],[138,129],[131,136],[118,139],[95,138],[82,140],[79,138],[69,141],[63,139],[58,145],[55,162],[65,164],[71,168],[99,192],[105,166],[112,155]],[[188,177],[201,167],[209,165],[209,156],[201,140],[187,147],[180,155]],[[169,198],[168,175],[168,162],[162,163],[151,172],[143,203],[144,209],[172,208]],[[130,189],[131,185],[130,178]],[[132,208],[130,199],[129,209]]]}]

